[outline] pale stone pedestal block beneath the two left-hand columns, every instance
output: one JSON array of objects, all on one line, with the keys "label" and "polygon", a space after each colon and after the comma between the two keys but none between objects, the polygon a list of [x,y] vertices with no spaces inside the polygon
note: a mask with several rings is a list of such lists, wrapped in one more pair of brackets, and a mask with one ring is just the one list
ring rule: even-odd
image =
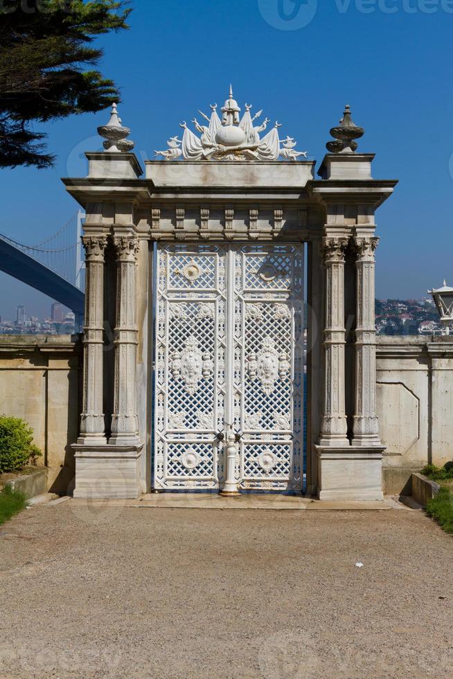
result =
[{"label": "pale stone pedestal block beneath the two left-hand columns", "polygon": [[74,497],[85,500],[136,500],[141,497],[138,446],[94,446],[76,443]]}]

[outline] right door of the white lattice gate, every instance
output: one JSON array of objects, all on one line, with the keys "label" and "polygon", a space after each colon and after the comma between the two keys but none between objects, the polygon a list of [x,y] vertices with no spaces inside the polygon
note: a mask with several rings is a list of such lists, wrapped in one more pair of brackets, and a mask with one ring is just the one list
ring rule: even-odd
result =
[{"label": "right door of the white lattice gate", "polygon": [[239,487],[301,489],[303,245],[242,245],[234,281]]}]

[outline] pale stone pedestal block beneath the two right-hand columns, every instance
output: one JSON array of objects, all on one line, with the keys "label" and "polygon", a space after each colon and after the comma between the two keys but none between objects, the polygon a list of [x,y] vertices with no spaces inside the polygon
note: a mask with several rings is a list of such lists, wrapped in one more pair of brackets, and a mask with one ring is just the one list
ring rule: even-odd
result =
[{"label": "pale stone pedestal block beneath the two right-hand columns", "polygon": [[319,500],[384,500],[384,446],[362,448],[315,446],[318,457]]}]

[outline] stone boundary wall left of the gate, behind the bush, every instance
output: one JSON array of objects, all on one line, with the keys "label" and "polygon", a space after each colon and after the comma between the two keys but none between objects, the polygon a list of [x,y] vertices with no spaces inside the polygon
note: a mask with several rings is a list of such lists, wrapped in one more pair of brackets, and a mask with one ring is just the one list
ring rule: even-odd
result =
[{"label": "stone boundary wall left of the gate, behind the bush", "polygon": [[53,493],[74,484],[81,349],[78,335],[0,335],[0,413],[33,427]]}]

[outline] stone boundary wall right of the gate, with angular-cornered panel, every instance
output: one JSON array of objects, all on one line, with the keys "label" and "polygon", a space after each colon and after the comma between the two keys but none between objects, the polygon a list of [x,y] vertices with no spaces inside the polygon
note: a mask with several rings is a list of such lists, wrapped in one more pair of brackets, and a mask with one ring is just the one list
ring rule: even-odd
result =
[{"label": "stone boundary wall right of the gate, with angular-cornered panel", "polygon": [[453,337],[377,337],[377,414],[384,492],[453,459]]}]

